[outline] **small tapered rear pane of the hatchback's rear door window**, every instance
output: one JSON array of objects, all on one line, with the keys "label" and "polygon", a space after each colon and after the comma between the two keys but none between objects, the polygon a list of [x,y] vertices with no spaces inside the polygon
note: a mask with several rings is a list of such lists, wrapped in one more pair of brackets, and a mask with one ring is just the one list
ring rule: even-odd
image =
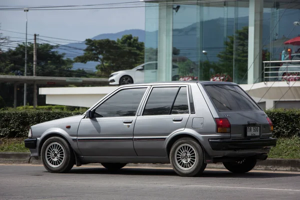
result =
[{"label": "small tapered rear pane of the hatchback's rear door window", "polygon": [[186,87],[181,87],[174,102],[171,114],[188,114]]}]

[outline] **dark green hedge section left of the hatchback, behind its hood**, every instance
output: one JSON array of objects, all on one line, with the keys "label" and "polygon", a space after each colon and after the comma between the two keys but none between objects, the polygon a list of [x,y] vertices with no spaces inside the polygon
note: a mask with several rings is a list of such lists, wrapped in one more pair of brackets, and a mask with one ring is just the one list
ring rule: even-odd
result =
[{"label": "dark green hedge section left of the hatchback, behind its hood", "polygon": [[21,137],[28,135],[31,125],[82,114],[78,111],[60,110],[0,110],[0,137]]}]

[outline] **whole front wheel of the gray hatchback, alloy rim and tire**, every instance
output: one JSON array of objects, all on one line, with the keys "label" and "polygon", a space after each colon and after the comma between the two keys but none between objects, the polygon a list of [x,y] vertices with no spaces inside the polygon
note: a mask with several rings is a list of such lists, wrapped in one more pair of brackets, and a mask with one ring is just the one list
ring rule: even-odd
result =
[{"label": "whole front wheel of the gray hatchback, alloy rim and tire", "polygon": [[41,147],[41,161],[49,172],[68,172],[75,163],[75,155],[61,137],[48,138]]}]

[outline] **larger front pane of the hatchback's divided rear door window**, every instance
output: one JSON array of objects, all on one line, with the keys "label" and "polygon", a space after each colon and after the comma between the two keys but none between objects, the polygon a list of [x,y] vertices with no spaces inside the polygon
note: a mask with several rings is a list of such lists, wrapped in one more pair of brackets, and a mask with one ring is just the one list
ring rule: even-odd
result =
[{"label": "larger front pane of the hatchback's divided rear door window", "polygon": [[143,115],[169,114],[178,87],[154,87],[147,100]]}]

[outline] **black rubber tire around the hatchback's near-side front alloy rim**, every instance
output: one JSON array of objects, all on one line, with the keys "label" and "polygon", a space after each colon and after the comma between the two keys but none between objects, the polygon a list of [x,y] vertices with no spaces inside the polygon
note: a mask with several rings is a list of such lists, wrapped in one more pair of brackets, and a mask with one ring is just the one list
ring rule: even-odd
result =
[{"label": "black rubber tire around the hatchback's near-side front alloy rim", "polygon": [[[63,158],[62,158],[62,155],[59,155],[57,153],[52,154],[53,151],[51,152],[51,155],[60,157],[60,159],[62,160],[62,162],[60,164],[56,164],[56,166],[54,166],[53,164],[52,164],[52,166],[50,165],[50,163],[51,163],[50,161],[53,161],[53,159],[47,159],[45,157],[45,151],[50,150],[50,147],[48,148],[48,146],[53,146],[53,144],[58,146],[58,147],[56,147],[56,149],[60,149],[59,147],[61,147],[63,149],[63,151],[60,151],[60,152],[64,153]],[[41,147],[41,151],[40,151],[40,156],[41,156],[41,161],[42,161],[43,166],[49,172],[52,172],[52,173],[68,172],[69,170],[71,170],[71,168],[74,166],[74,163],[75,163],[75,155],[74,155],[71,147],[63,138],[57,137],[57,136],[50,137],[43,143],[43,145]],[[55,157],[55,159],[56,159],[56,157]],[[58,159],[58,161],[60,161],[60,159]],[[48,162],[47,162],[47,160],[48,160]],[[57,163],[58,163],[58,161],[57,161]]]}]

